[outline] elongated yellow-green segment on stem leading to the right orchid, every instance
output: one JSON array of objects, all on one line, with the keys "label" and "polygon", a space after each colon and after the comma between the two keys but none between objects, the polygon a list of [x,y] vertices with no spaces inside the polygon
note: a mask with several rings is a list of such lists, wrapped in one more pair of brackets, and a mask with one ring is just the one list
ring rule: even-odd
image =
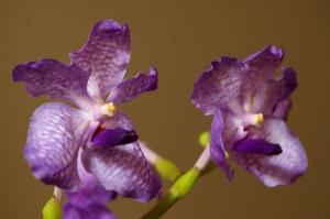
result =
[{"label": "elongated yellow-green segment on stem leading to the right orchid", "polygon": [[170,187],[169,194],[176,198],[182,198],[189,193],[199,177],[200,171],[198,168],[190,168],[182,175]]}]

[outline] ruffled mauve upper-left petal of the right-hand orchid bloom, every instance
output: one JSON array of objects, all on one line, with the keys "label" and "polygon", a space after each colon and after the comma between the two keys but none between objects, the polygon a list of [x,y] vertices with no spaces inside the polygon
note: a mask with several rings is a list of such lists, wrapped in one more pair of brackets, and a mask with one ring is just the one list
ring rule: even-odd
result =
[{"label": "ruffled mauve upper-left petal of the right-hand orchid bloom", "polygon": [[221,57],[212,62],[194,85],[191,102],[206,114],[213,114],[219,108],[227,110],[229,102],[240,95],[245,66],[238,59]]}]

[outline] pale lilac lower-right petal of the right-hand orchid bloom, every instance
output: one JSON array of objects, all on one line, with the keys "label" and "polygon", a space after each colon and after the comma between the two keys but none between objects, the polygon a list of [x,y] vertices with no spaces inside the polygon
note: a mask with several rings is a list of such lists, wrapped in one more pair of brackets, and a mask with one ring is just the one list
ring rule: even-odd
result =
[{"label": "pale lilac lower-right petal of the right-hand orchid bloom", "polygon": [[299,139],[290,133],[283,120],[265,119],[257,138],[279,144],[283,152],[274,156],[232,153],[240,165],[268,187],[292,184],[304,175],[308,166],[306,152]]}]

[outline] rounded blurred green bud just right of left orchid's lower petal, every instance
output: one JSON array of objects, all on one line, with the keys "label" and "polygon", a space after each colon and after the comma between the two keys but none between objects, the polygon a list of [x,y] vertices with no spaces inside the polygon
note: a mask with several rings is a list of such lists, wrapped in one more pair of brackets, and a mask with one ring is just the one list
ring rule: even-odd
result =
[{"label": "rounded blurred green bud just right of left orchid's lower petal", "polygon": [[182,175],[180,169],[173,162],[162,157],[155,162],[155,169],[162,178],[170,182]]}]

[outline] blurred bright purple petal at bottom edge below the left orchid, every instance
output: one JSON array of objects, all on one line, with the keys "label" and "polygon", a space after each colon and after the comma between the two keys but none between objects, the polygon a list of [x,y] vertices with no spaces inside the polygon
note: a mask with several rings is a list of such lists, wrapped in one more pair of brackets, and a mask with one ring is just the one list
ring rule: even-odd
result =
[{"label": "blurred bright purple petal at bottom edge below the left orchid", "polygon": [[63,206],[64,219],[116,219],[106,205],[91,204],[85,208],[66,202]]}]

